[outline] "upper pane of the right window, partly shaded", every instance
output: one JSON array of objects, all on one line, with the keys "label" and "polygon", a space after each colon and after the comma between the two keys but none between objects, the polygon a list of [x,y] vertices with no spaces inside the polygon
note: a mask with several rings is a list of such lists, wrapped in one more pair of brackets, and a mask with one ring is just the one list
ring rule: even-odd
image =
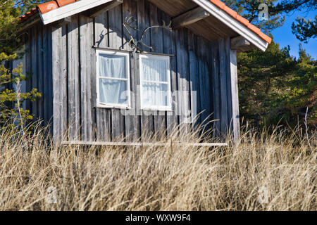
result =
[{"label": "upper pane of the right window, partly shaded", "polygon": [[142,58],[142,70],[143,70],[142,79],[144,80],[155,81],[155,82],[168,81],[165,59],[155,57],[155,56]]}]

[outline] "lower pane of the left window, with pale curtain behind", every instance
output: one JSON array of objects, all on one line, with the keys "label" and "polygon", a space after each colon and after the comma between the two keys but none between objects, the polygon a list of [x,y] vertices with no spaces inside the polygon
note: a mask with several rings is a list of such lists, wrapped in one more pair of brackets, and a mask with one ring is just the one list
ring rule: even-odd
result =
[{"label": "lower pane of the left window, with pale curtain behind", "polygon": [[126,81],[99,79],[100,103],[128,104]]}]

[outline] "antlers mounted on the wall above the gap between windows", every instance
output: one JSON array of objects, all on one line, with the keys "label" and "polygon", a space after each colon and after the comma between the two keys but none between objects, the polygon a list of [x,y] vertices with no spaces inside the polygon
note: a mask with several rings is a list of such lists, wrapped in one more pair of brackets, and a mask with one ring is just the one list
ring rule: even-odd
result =
[{"label": "antlers mounted on the wall above the gap between windows", "polygon": [[170,30],[170,32],[172,32],[172,21],[170,21],[170,23],[168,25],[166,25],[165,21],[163,20],[163,25],[154,25],[151,27],[147,27],[146,29],[144,29],[142,31],[141,37],[138,41],[135,40],[135,38],[132,36],[130,29],[135,30],[137,32],[139,32],[140,30],[137,29],[137,27],[133,26],[133,23],[137,22],[133,17],[130,18],[125,18],[125,23],[123,23],[123,26],[125,27],[125,30],[128,31],[128,34],[130,36],[130,41],[129,41],[129,46],[136,51],[139,51],[142,53],[142,46],[146,46],[147,48],[151,49],[152,51],[154,50],[153,46],[148,46],[147,44],[143,43],[143,38],[144,35],[147,33],[147,31],[151,30],[152,28],[163,28],[166,30]]}]

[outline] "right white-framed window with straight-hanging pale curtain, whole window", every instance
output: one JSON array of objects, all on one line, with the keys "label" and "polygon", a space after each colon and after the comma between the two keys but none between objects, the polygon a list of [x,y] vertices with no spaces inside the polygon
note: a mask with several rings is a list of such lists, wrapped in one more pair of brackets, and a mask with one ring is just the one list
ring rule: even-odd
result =
[{"label": "right white-framed window with straight-hanging pale curtain, whole window", "polygon": [[172,110],[170,57],[140,55],[141,108]]}]

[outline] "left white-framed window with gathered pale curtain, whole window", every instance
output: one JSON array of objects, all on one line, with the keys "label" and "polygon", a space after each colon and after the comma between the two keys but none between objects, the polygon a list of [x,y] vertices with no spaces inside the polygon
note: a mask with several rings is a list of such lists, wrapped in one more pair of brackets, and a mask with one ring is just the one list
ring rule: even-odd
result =
[{"label": "left white-framed window with gathered pale curtain, whole window", "polygon": [[97,50],[97,106],[130,108],[130,54]]}]

